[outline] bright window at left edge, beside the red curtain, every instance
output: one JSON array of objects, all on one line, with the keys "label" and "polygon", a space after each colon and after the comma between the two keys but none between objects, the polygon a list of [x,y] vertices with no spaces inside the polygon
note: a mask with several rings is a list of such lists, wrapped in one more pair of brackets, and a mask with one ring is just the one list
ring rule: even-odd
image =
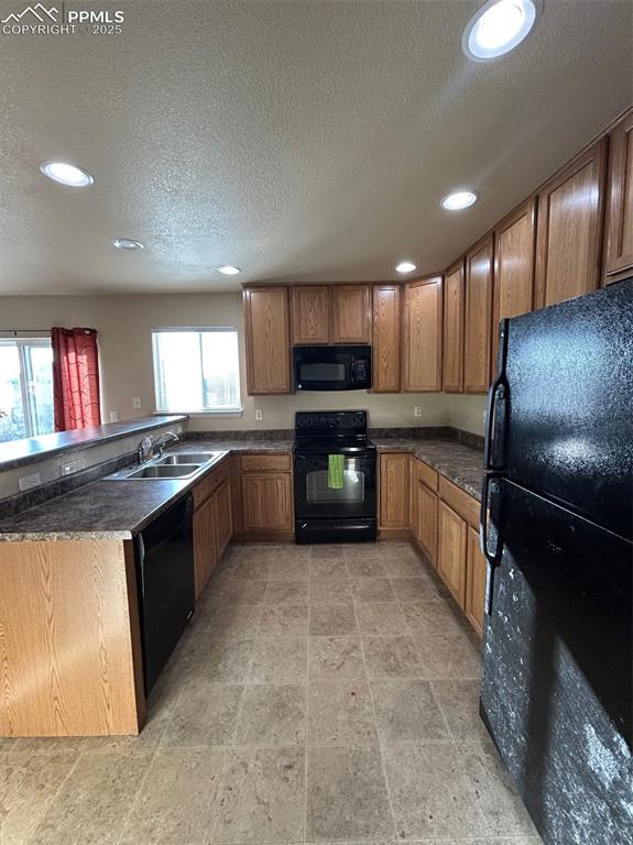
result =
[{"label": "bright window at left edge, beside the red curtain", "polygon": [[50,338],[0,338],[0,442],[54,428]]}]

